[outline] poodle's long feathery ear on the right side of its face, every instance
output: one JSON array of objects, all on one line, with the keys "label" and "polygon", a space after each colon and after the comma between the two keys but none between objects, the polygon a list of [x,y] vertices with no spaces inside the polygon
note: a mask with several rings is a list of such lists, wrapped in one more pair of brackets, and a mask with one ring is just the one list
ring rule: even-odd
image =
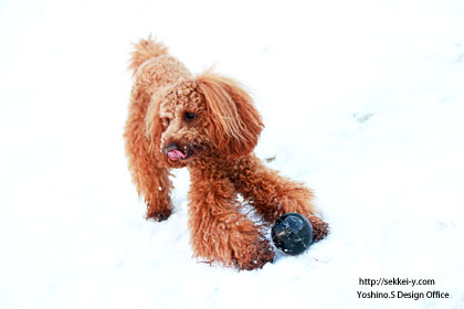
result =
[{"label": "poodle's long feathery ear on the right side of its face", "polygon": [[214,147],[225,156],[249,154],[264,125],[251,96],[235,81],[207,71],[197,77],[203,94]]}]

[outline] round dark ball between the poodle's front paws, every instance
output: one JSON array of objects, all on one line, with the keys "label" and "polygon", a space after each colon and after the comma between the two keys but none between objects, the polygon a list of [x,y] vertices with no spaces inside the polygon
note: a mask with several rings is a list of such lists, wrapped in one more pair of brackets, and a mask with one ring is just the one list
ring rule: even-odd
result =
[{"label": "round dark ball between the poodle's front paws", "polygon": [[277,217],[271,236],[278,249],[288,255],[298,255],[313,243],[313,226],[299,213],[286,213]]}]

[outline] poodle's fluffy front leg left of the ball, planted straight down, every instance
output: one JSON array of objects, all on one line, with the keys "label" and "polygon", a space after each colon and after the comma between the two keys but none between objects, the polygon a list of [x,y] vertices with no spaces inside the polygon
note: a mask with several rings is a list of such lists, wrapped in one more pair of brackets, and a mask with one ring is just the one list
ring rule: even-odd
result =
[{"label": "poodle's fluffy front leg left of the ball, planted straight down", "polygon": [[189,192],[191,244],[197,256],[239,269],[261,268],[274,258],[260,228],[238,210],[228,179],[196,181]]}]

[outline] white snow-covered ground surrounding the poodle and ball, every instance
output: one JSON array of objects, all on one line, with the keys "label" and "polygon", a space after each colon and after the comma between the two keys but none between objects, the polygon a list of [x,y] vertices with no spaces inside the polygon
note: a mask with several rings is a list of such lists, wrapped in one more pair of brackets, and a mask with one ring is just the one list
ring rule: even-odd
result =
[{"label": "white snow-covered ground surrounding the poodle and ball", "polygon": [[[172,216],[144,220],[122,135],[150,32],[253,90],[256,153],[315,190],[327,239],[199,263],[184,170]],[[0,308],[464,308],[463,1],[7,0],[0,39]]]}]

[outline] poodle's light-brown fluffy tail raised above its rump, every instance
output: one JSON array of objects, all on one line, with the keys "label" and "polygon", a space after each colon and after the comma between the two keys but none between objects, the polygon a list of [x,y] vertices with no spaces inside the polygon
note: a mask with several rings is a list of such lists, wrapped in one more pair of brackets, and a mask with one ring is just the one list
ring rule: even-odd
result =
[{"label": "poodle's light-brown fluffy tail raised above its rump", "polygon": [[151,39],[151,35],[147,40],[141,39],[138,43],[134,44],[134,47],[135,51],[131,54],[129,64],[129,70],[133,71],[133,75],[137,73],[138,67],[147,60],[168,53],[168,47],[156,42]]}]

